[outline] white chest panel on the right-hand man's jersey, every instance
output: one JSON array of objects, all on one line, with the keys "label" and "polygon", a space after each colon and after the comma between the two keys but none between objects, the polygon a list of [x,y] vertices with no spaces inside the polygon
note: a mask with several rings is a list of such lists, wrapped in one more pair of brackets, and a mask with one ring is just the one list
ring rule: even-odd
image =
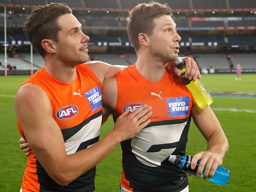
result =
[{"label": "white chest panel on the right-hand man's jersey", "polygon": [[[173,125],[159,125],[142,129],[132,140],[131,148],[136,158],[143,164],[150,167],[161,166],[176,147],[167,148],[173,143],[178,142],[187,121]],[[163,149],[155,152],[147,152],[150,147],[164,145]],[[167,146],[167,147],[166,147]]]}]

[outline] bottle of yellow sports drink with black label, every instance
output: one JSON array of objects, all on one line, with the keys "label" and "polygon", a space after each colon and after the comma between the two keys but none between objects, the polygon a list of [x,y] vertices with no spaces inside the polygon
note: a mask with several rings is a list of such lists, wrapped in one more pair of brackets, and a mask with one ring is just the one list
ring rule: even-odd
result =
[{"label": "bottle of yellow sports drink with black label", "polygon": [[181,80],[183,84],[189,89],[189,91],[192,93],[195,103],[201,108],[204,109],[208,105],[213,103],[213,99],[211,98],[211,95],[206,91],[202,83],[199,79],[196,79],[193,81],[192,79],[189,80],[188,78],[185,78],[185,62],[181,60],[181,58],[177,59],[177,68],[181,71]]}]

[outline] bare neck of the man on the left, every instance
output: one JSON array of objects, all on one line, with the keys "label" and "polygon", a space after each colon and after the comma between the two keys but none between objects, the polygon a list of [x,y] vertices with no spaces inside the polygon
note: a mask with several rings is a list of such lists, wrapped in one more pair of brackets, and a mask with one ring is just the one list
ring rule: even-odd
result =
[{"label": "bare neck of the man on the left", "polygon": [[75,66],[65,65],[52,58],[44,58],[44,68],[52,78],[64,83],[72,83],[77,76]]}]

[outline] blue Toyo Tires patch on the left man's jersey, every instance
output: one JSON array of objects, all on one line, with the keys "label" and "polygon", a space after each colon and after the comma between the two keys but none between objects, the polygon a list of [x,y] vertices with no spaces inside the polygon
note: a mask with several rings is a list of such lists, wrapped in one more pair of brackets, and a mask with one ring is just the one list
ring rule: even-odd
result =
[{"label": "blue Toyo Tires patch on the left man's jersey", "polygon": [[100,108],[102,106],[101,102],[101,88],[99,86],[91,89],[84,93],[84,97],[89,101],[92,107],[92,111]]}]

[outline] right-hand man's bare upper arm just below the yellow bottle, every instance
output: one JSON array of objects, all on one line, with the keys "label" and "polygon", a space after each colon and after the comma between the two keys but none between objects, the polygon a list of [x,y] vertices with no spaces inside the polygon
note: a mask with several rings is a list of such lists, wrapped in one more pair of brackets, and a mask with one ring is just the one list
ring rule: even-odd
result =
[{"label": "right-hand man's bare upper arm just below the yellow bottle", "polygon": [[213,132],[222,130],[219,120],[209,106],[205,109],[201,109],[194,104],[192,106],[191,114],[196,127],[200,130],[207,141]]}]

